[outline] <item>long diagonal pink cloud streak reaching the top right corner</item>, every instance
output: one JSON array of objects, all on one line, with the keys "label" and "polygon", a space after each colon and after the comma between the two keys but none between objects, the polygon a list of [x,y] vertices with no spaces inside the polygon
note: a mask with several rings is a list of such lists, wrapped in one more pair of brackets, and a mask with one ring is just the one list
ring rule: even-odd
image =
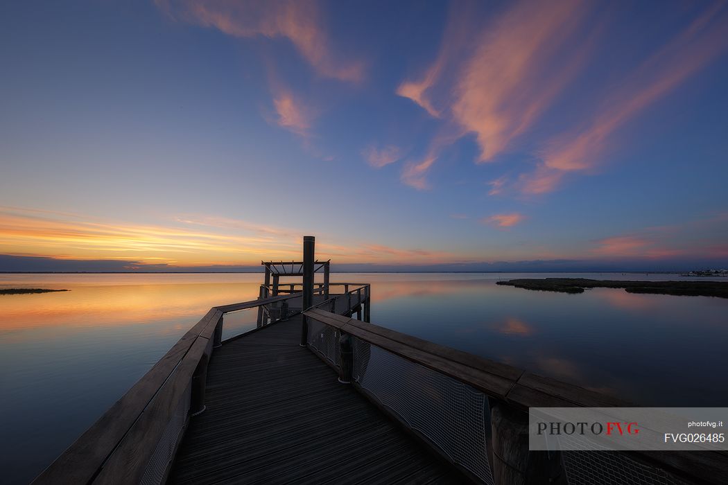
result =
[{"label": "long diagonal pink cloud streak reaching the top right corner", "polygon": [[620,86],[602,96],[604,102],[586,127],[579,126],[549,140],[542,151],[542,163],[522,178],[522,190],[550,192],[558,187],[566,173],[593,169],[604,153],[615,148],[614,132],[726,50],[727,25],[724,2],[716,2],[706,9],[630,73]]}]

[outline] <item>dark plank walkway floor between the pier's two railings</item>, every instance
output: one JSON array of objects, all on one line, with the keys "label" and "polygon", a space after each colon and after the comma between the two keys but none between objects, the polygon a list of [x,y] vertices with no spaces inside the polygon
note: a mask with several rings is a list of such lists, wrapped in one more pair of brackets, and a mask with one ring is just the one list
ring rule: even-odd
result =
[{"label": "dark plank walkway floor between the pier's two railings", "polygon": [[298,345],[301,316],[215,350],[207,410],[191,418],[169,483],[460,483]]}]

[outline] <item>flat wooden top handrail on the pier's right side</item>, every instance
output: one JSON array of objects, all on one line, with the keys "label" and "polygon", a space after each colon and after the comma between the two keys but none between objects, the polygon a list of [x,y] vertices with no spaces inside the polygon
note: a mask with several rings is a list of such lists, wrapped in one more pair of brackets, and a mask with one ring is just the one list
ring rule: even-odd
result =
[{"label": "flat wooden top handrail on the pier's right side", "polygon": [[[529,407],[634,407],[627,401],[577,385],[526,372],[518,367],[462,350],[439,345],[383,326],[336,315],[320,309],[304,316],[333,326],[345,334],[369,342],[397,356],[440,372],[480,390],[513,409],[528,412]],[[624,452],[678,476],[701,483],[719,483],[716,477],[728,473],[728,452]]]}]

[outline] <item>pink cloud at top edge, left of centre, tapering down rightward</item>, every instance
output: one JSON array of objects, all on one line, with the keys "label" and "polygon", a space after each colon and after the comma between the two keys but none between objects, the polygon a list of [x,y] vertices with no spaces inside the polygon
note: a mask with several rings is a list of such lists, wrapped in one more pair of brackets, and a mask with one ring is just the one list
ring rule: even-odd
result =
[{"label": "pink cloud at top edge, left of centre, tapering down rightward", "polygon": [[154,0],[170,17],[235,37],[285,38],[323,77],[360,82],[364,64],[337,54],[317,1]]}]

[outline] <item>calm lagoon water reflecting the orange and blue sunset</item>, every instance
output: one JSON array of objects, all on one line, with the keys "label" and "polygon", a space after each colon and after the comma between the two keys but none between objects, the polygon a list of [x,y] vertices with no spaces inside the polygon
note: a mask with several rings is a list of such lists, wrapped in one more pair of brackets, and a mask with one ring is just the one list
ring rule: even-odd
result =
[{"label": "calm lagoon water reflecting the orange and blue sunset", "polygon": [[[372,284],[373,323],[650,406],[727,406],[728,300],[531,292],[499,279],[687,279],[621,273],[334,273]],[[0,469],[24,484],[207,310],[253,300],[261,274],[0,275]],[[223,337],[253,312],[226,317]],[[254,326],[254,323],[252,324]]]}]

